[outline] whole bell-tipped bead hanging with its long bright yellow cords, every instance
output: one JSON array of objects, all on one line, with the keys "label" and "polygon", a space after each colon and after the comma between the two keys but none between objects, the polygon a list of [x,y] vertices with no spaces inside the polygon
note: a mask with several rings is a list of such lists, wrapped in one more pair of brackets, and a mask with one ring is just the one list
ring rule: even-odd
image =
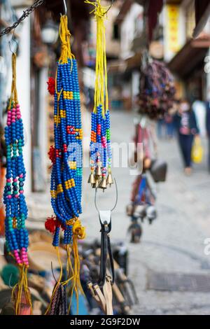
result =
[{"label": "whole bell-tipped bead hanging with its long bright yellow cords", "polygon": [[106,189],[113,184],[111,175],[111,139],[109,118],[109,97],[107,89],[106,71],[106,37],[104,19],[109,10],[101,5],[101,0],[95,2],[86,0],[94,6],[95,19],[97,21],[97,52],[95,65],[95,90],[94,109],[91,116],[90,137],[90,169],[91,174],[88,183],[93,188]]}]

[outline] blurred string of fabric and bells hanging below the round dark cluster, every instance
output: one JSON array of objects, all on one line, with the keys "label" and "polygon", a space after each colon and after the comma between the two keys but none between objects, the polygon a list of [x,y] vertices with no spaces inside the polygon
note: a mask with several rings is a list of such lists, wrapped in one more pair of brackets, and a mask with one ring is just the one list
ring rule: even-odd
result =
[{"label": "blurred string of fabric and bells hanging below the round dark cluster", "polygon": [[[148,170],[151,170],[152,153],[156,151],[156,139],[154,125],[148,118],[141,118],[135,126],[134,143],[136,147],[135,162],[139,169],[139,175],[132,185],[131,204],[127,206],[127,215],[131,218],[129,231],[131,242],[139,242],[142,228],[139,223],[148,219],[152,223],[156,218],[156,195],[148,181]],[[139,149],[142,146],[142,149]],[[152,147],[153,146],[153,147]]]}]

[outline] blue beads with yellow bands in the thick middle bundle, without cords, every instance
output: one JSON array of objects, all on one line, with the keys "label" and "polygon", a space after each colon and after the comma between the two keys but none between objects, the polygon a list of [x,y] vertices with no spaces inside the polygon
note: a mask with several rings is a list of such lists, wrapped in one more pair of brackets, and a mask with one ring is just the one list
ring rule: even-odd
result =
[{"label": "blue beads with yellow bands in the thick middle bundle, without cords", "polygon": [[[82,128],[80,94],[76,59],[58,63],[55,91],[54,131],[55,164],[51,174],[51,203],[58,221],[64,228],[64,244],[70,244],[72,225],[81,208]],[[59,227],[53,246],[59,245]]]}]

